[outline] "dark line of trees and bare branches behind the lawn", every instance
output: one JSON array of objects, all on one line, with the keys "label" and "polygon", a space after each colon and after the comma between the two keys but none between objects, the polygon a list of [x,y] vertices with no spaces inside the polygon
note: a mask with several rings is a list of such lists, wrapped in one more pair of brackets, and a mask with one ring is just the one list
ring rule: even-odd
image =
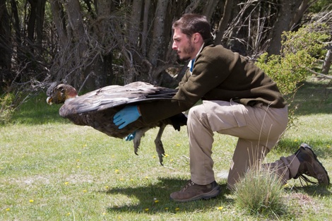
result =
[{"label": "dark line of trees and bare branches behind the lawn", "polygon": [[332,30],[328,0],[0,0],[1,90],[54,80],[86,90],[174,86],[186,65],[172,52],[171,26],[183,13],[206,15],[217,44],[253,59],[278,54],[282,32],[319,13]]}]

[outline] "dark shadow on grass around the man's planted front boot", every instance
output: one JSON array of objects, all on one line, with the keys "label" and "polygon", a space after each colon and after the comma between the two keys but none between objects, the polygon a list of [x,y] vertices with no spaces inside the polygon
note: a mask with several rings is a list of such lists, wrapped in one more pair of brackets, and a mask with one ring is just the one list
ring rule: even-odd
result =
[{"label": "dark shadow on grass around the man's planted front boot", "polygon": [[[225,207],[233,203],[231,198],[226,198],[225,195],[230,191],[226,188],[226,184],[221,184],[222,192],[219,196],[208,200],[191,201],[187,203],[178,203],[170,200],[170,193],[179,191],[182,186],[186,184],[183,179],[169,179],[159,178],[158,184],[141,187],[127,187],[109,189],[101,191],[106,194],[121,194],[130,198],[136,198],[139,203],[135,205],[125,205],[109,207],[109,213],[113,212],[134,212],[134,213],[181,213],[181,212],[194,212],[199,210],[218,210],[220,206]],[[156,203],[154,198],[158,198]],[[146,210],[148,208],[148,210]]]}]

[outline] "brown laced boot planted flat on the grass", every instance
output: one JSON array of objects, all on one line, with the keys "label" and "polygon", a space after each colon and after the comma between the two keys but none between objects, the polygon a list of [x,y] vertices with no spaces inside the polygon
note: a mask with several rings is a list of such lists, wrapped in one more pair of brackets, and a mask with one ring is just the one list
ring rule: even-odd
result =
[{"label": "brown laced boot planted flat on the grass", "polygon": [[189,180],[181,191],[171,193],[170,198],[177,202],[188,202],[213,198],[218,196],[219,193],[220,186],[215,181],[208,185],[198,185]]}]

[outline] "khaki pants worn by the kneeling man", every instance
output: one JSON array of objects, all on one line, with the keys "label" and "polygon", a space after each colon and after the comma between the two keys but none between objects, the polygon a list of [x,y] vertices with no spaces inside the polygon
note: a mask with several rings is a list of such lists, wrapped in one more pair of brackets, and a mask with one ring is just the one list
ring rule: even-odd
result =
[{"label": "khaki pants worn by the kneeling man", "polygon": [[[247,170],[261,162],[287,126],[287,107],[244,106],[236,102],[203,101],[188,116],[191,180],[206,185],[215,181],[212,160],[213,132],[238,137],[232,157],[228,188]],[[226,159],[225,159],[226,160]],[[295,155],[270,164],[284,181],[295,177],[300,162]]]}]

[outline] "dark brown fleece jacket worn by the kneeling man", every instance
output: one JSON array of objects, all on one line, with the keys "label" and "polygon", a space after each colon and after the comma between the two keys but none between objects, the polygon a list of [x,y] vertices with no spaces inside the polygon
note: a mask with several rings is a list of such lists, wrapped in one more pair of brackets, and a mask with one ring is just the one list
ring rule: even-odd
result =
[{"label": "dark brown fleece jacket worn by the kneeling man", "polygon": [[286,103],[276,83],[243,56],[214,45],[211,40],[196,56],[194,69],[186,71],[172,101],[141,104],[146,123],[172,117],[194,106],[198,100],[224,100],[254,106],[282,108]]}]

